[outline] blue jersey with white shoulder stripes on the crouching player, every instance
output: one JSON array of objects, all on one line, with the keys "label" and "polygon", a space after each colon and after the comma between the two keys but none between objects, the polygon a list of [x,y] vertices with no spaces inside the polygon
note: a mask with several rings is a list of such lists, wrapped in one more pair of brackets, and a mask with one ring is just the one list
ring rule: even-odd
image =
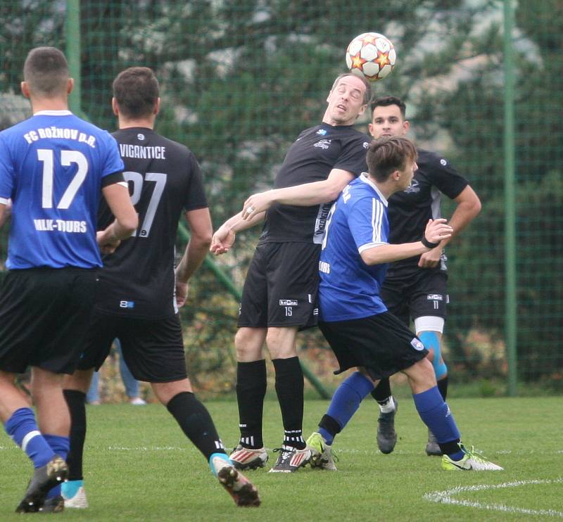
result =
[{"label": "blue jersey with white shoulder stripes on the crouching player", "polygon": [[363,175],[332,205],[319,262],[324,322],[361,319],[387,310],[379,297],[387,265],[366,265],[361,253],[388,243],[387,200]]}]

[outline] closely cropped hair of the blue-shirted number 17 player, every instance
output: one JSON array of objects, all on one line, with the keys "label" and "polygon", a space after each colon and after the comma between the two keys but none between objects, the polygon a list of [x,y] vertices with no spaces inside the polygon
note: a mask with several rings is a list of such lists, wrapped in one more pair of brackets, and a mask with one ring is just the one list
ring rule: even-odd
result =
[{"label": "closely cropped hair of the blue-shirted number 17 player", "polygon": [[32,94],[65,94],[68,78],[65,55],[55,47],[36,47],[27,54],[23,64],[23,79],[29,84]]}]

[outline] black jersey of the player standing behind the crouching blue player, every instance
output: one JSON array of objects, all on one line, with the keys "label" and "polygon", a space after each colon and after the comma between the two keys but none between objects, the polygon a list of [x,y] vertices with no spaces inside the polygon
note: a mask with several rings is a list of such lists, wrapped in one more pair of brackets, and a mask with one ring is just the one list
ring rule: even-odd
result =
[{"label": "black jersey of the player standing behind the crouching blue player", "polygon": [[[418,170],[410,187],[396,192],[388,200],[389,243],[412,243],[420,241],[429,219],[441,217],[441,195],[454,199],[468,185],[462,177],[441,156],[418,149]],[[388,274],[416,269],[420,256],[409,257],[391,263]],[[445,269],[445,256],[439,269]]]}]

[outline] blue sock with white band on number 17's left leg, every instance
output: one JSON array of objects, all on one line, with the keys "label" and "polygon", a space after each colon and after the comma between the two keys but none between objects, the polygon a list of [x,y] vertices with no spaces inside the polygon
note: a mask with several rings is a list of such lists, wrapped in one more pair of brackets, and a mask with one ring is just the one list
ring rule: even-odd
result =
[{"label": "blue sock with white band on number 17's left leg", "polygon": [[30,457],[35,468],[44,466],[53,458],[54,452],[39,431],[31,408],[16,409],[4,428],[27,457]]}]

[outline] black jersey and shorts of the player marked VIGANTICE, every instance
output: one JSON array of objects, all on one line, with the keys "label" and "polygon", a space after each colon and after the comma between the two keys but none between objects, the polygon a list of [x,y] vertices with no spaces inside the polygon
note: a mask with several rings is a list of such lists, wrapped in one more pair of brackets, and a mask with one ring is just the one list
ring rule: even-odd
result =
[{"label": "black jersey and shorts of the player marked VIGANTICE", "polygon": [[[101,367],[119,338],[127,367],[139,381],[177,381],[187,374],[175,299],[175,238],[182,211],[208,207],[201,169],[188,148],[152,129],[121,129],[113,137],[139,228],[103,257],[96,321],[79,369]],[[99,226],[111,219],[101,207]]]}]

